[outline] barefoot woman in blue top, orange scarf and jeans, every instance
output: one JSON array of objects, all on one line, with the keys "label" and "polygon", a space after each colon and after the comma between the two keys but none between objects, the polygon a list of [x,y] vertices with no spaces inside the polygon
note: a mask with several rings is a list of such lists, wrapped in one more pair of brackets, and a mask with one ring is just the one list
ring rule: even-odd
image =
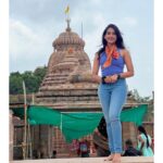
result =
[{"label": "barefoot woman in blue top, orange scarf and jeans", "polygon": [[[127,96],[125,78],[134,76],[134,67],[121,32],[114,24],[110,24],[104,29],[102,46],[93,60],[92,79],[100,84],[98,96],[106,122],[111,151],[108,160],[121,163],[122,126],[120,114]],[[124,72],[125,64],[126,72]],[[99,67],[101,67],[102,77],[98,75]]]}]

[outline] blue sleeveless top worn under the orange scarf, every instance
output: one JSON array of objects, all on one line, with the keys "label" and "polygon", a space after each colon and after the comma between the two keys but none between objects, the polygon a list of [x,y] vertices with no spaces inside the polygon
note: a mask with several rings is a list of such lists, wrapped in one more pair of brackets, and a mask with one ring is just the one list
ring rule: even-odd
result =
[{"label": "blue sleeveless top worn under the orange scarf", "polygon": [[[120,49],[117,49],[117,50],[120,52]],[[105,60],[106,60],[106,53],[105,53],[105,51],[103,51],[100,54],[100,66],[101,66],[102,76],[110,76],[110,75],[114,75],[114,74],[121,74],[124,72],[125,61],[121,53],[120,53],[118,59],[112,58],[111,65],[102,70],[102,65],[104,64]]]}]

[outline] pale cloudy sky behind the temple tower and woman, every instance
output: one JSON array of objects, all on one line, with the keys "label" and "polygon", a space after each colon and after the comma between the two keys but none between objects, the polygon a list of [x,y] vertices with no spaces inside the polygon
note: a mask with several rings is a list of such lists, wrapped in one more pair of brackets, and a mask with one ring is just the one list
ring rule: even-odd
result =
[{"label": "pale cloudy sky behind the temple tower and woman", "polygon": [[70,5],[71,28],[86,42],[92,64],[101,35],[110,23],[123,33],[135,66],[128,88],[140,96],[153,90],[153,0],[10,0],[10,72],[34,71],[48,64],[52,41],[66,28],[64,10]]}]

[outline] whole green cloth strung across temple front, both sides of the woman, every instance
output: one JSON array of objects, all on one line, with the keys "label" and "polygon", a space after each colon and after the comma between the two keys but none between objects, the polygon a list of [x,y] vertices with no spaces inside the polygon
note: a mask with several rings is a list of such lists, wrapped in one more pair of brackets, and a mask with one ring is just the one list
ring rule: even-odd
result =
[{"label": "whole green cloth strung across temple front, both sides of the woman", "polygon": [[[130,108],[122,112],[122,122],[133,122],[141,125],[147,112],[147,104]],[[21,112],[22,110],[22,112]],[[14,114],[18,109],[13,109]],[[22,113],[22,114],[21,114]],[[23,117],[23,109],[17,115]],[[96,112],[61,113],[47,106],[30,105],[27,109],[28,122],[30,125],[54,125],[59,126],[67,142],[91,134],[100,122],[103,114]]]}]

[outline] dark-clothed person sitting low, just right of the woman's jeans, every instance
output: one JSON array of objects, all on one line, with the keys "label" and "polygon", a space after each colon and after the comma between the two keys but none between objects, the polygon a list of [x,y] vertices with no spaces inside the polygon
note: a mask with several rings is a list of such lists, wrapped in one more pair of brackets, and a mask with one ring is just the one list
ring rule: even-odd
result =
[{"label": "dark-clothed person sitting low, just right of the woman's jeans", "polygon": [[134,146],[133,146],[133,141],[130,139],[127,139],[125,141],[125,152],[123,154],[123,156],[139,156],[139,155],[142,155],[142,153],[135,149]]}]

